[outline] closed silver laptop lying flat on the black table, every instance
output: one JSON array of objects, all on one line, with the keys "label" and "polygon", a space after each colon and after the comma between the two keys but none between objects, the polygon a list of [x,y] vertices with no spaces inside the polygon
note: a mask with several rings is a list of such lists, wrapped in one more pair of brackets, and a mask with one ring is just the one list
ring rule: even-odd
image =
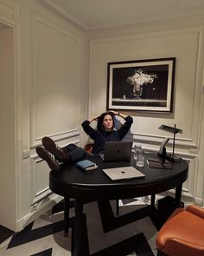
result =
[{"label": "closed silver laptop lying flat on the black table", "polygon": [[145,177],[145,174],[141,173],[134,167],[117,167],[103,169],[103,172],[112,180],[131,180]]}]

